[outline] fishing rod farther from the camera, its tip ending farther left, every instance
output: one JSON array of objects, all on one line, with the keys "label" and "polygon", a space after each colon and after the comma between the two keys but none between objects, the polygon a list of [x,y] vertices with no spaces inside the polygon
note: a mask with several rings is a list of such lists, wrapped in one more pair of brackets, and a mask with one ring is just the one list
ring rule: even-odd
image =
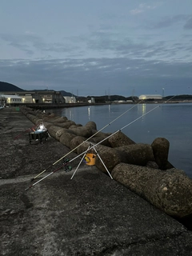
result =
[{"label": "fishing rod farther from the camera, its tip ending farther left", "polygon": [[111,123],[115,122],[116,120],[118,120],[118,118],[121,118],[124,114],[126,114],[127,112],[129,112],[130,110],[132,110],[135,106],[138,106],[138,104],[140,104],[143,100],[141,100],[140,102],[138,102],[137,104],[135,104],[134,106],[132,106],[130,109],[126,110],[124,113],[122,113],[121,115],[119,115],[117,118],[114,118],[113,121],[109,122],[108,124],[106,124],[106,126],[103,126],[102,129],[98,130],[95,134],[91,135],[89,138],[87,138],[85,141],[83,141],[81,144],[79,144],[78,146],[76,146],[73,150],[70,150],[70,152],[68,152],[67,154],[65,154],[64,156],[62,156],[62,158],[59,158],[56,162],[54,162],[51,166],[48,166],[45,170],[42,170],[42,172],[40,174],[38,174],[37,176],[35,176],[34,178],[31,179],[31,182],[34,181],[35,178],[38,178],[40,175],[44,174],[47,170],[50,170],[50,168],[54,165],[56,165],[56,163],[58,163],[59,161],[61,161],[63,158],[66,158],[67,155],[69,155],[70,153],[74,152],[74,150],[77,150],[79,146],[82,146],[83,143],[87,142],[88,140],[90,140],[90,138],[93,138],[96,134],[98,134],[99,132],[101,132],[102,130],[104,130],[107,126],[110,126]]}]

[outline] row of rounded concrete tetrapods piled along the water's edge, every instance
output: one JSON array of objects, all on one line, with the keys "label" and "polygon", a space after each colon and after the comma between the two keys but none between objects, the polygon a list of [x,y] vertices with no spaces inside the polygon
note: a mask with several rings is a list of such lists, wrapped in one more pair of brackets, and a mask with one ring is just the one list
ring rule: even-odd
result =
[{"label": "row of rounded concrete tetrapods piled along the water's edge", "polygon": [[98,170],[110,172],[114,180],[166,214],[181,219],[191,216],[192,180],[168,161],[170,143],[166,138],[156,138],[151,145],[135,143],[121,131],[98,131],[94,122],[82,126],[40,110],[22,107],[21,111],[35,125],[43,122],[50,136],[71,152],[96,154]]}]

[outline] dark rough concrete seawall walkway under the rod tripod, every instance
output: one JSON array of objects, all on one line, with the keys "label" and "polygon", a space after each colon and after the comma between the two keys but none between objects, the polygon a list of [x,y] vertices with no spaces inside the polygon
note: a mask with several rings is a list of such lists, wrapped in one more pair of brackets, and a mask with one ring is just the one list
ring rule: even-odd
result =
[{"label": "dark rough concrete seawall walkway under the rod tripod", "polygon": [[0,122],[2,255],[192,255],[190,230],[96,166],[71,179],[80,158],[25,191],[70,150],[55,138],[30,144],[34,123],[15,108]]}]

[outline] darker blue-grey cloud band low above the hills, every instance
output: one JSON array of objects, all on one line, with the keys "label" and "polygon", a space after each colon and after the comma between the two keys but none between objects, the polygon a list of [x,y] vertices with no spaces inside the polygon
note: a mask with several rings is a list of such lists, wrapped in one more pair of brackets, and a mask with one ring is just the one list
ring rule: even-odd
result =
[{"label": "darker blue-grey cloud band low above the hills", "polygon": [[[79,95],[110,94],[129,96],[150,94],[169,86],[188,88],[192,82],[192,62],[163,62],[130,58],[50,59],[38,61],[0,61],[2,81],[25,90],[78,90]],[[170,83],[173,80],[174,84]],[[181,86],[182,84],[182,86]],[[168,87],[166,86],[166,90]],[[180,86],[180,87],[179,87]]]}]

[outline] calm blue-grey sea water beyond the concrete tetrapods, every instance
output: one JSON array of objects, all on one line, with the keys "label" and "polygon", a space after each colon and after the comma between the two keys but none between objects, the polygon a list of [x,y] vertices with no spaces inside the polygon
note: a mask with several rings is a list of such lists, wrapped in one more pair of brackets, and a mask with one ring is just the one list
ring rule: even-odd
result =
[{"label": "calm blue-grey sea water beyond the concrete tetrapods", "polygon": [[192,103],[118,104],[53,110],[76,124],[94,121],[102,132],[122,130],[134,142],[170,142],[169,162],[192,178]]}]

